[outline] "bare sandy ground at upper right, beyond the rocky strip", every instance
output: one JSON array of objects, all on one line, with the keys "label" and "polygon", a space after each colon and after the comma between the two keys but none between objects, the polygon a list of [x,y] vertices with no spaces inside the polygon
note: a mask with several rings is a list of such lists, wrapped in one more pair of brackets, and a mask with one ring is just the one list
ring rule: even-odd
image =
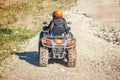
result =
[{"label": "bare sandy ground at upper right, beyond the rocky strip", "polygon": [[120,0],[79,0],[78,5],[79,13],[85,13],[100,24],[120,30]]}]

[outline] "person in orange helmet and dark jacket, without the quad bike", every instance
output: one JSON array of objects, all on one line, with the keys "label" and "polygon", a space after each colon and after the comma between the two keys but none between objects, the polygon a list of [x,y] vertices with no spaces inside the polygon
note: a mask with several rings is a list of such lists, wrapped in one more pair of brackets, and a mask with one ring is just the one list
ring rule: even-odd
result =
[{"label": "person in orange helmet and dark jacket, without the quad bike", "polygon": [[62,10],[56,10],[53,12],[53,20],[50,21],[48,28],[50,29],[50,33],[68,33],[70,27],[67,26],[66,20],[63,18]]}]

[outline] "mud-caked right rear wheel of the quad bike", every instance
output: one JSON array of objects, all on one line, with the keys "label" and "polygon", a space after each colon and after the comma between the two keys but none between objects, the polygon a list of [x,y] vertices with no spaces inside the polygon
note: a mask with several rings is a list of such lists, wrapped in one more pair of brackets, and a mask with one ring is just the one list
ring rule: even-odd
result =
[{"label": "mud-caked right rear wheel of the quad bike", "polygon": [[72,47],[68,50],[67,64],[68,67],[75,67],[77,61],[76,47]]}]

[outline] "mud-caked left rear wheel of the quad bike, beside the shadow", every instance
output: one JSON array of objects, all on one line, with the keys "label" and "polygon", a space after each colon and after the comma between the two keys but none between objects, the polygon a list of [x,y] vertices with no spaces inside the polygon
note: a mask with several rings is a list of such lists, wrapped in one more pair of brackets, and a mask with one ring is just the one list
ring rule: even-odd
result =
[{"label": "mud-caked left rear wheel of the quad bike, beside the shadow", "polygon": [[40,67],[46,67],[48,65],[48,50],[40,47],[39,51],[39,65]]}]

